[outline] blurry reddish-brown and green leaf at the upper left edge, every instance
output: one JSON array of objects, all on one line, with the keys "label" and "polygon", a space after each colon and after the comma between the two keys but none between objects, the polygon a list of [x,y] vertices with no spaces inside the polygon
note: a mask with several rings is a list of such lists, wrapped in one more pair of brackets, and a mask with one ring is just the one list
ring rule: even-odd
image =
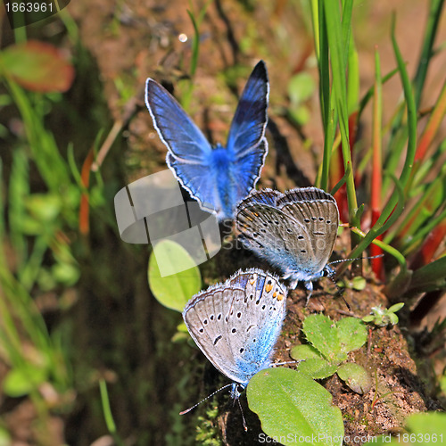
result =
[{"label": "blurry reddish-brown and green leaf at the upper left edge", "polygon": [[74,78],[73,66],[55,46],[33,40],[4,49],[0,73],[41,93],[66,91]]}]

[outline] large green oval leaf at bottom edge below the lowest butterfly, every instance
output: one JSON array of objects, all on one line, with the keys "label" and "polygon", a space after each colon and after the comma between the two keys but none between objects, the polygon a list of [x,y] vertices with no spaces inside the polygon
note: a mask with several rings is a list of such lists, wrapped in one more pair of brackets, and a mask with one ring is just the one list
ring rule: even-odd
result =
[{"label": "large green oval leaf at bottom edge below the lowest butterfly", "polygon": [[248,404],[265,434],[284,445],[343,443],[341,410],[310,376],[291,368],[268,368],[248,384]]}]

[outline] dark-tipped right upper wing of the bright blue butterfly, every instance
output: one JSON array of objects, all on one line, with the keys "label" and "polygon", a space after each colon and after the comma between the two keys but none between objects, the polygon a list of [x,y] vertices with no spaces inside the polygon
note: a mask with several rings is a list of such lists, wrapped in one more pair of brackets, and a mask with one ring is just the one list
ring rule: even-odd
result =
[{"label": "dark-tipped right upper wing of the bright blue butterfly", "polygon": [[[232,120],[227,136],[227,150],[235,153],[237,161],[252,153],[265,136],[268,116],[268,73],[265,62],[260,61],[252,70]],[[266,146],[258,153],[257,161],[263,165]]]}]

